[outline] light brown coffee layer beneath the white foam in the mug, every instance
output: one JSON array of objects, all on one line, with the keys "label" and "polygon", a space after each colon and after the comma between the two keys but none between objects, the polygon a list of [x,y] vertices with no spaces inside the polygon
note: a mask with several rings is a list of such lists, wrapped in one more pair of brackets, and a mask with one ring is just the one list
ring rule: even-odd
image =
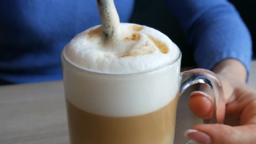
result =
[{"label": "light brown coffee layer beneath the white foam in the mug", "polygon": [[178,96],[165,107],[135,117],[104,117],[67,100],[71,144],[172,144]]}]

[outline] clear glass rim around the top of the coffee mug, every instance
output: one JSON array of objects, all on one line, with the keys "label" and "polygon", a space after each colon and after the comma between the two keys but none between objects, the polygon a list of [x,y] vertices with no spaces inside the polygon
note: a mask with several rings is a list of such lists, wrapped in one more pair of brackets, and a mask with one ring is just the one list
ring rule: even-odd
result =
[{"label": "clear glass rim around the top of the coffee mug", "polygon": [[72,61],[70,61],[66,56],[65,56],[65,49],[66,49],[66,46],[63,48],[63,50],[61,51],[61,62],[65,61],[68,65],[70,65],[71,67],[74,67],[75,69],[79,70],[79,71],[82,71],[82,72],[85,72],[87,74],[95,74],[95,75],[112,75],[112,76],[129,76],[129,75],[144,75],[144,74],[150,74],[150,73],[154,73],[154,72],[157,72],[157,71],[160,71],[162,69],[165,69],[165,68],[168,68],[168,67],[171,67],[174,63],[176,63],[179,59],[181,59],[181,56],[182,56],[182,53],[178,48],[178,53],[179,55],[177,56],[177,58],[174,60],[174,61],[171,61],[170,63],[167,63],[167,64],[164,64],[160,67],[156,67],[155,69],[150,69],[150,70],[147,70],[147,71],[143,71],[143,72],[134,72],[134,73],[128,73],[128,74],[115,74],[115,73],[104,73],[104,72],[94,72],[94,71],[90,71],[90,70],[87,70],[83,67],[80,67],[78,66],[77,64],[74,64]]}]

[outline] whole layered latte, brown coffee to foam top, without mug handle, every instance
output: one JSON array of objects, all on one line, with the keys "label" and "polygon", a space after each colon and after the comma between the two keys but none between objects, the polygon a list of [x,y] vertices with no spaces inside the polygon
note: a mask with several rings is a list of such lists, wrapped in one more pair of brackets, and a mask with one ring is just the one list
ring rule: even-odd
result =
[{"label": "whole layered latte, brown coffee to foam top, without mug handle", "polygon": [[163,33],[120,24],[115,46],[100,26],[62,52],[71,144],[172,144],[180,83],[179,48]]}]

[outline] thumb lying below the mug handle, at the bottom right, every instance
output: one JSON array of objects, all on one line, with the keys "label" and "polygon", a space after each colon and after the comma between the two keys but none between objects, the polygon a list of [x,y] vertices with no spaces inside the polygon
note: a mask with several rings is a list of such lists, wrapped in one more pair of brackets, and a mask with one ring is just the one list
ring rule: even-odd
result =
[{"label": "thumb lying below the mug handle, at the bottom right", "polygon": [[200,144],[255,144],[256,125],[231,127],[222,124],[201,124],[184,135]]}]

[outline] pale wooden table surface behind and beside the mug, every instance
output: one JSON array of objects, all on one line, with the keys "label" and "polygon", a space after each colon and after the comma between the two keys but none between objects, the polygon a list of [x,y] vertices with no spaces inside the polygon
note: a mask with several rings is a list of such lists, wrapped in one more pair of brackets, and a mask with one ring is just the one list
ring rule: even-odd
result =
[{"label": "pale wooden table surface behind and beside the mug", "polygon": [[[256,61],[249,85],[256,88]],[[175,144],[186,141],[183,132],[201,122],[188,109],[188,94],[179,101]],[[61,81],[0,87],[0,144],[69,144]]]}]

